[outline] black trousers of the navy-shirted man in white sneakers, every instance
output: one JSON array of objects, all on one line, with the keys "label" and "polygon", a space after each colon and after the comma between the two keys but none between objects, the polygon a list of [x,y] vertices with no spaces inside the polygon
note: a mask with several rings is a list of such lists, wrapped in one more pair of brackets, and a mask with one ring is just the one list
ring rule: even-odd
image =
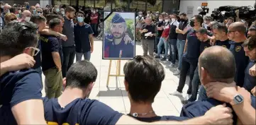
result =
[{"label": "black trousers of the navy-shirted man in white sneakers", "polygon": [[189,71],[189,90],[187,90],[187,94],[191,95],[192,91],[192,80],[194,77],[194,71],[197,67],[198,59],[187,59],[186,57],[182,57],[182,70],[180,72],[179,76],[179,86],[177,88],[177,91],[179,93],[182,93],[182,90],[184,88],[187,72]]}]

